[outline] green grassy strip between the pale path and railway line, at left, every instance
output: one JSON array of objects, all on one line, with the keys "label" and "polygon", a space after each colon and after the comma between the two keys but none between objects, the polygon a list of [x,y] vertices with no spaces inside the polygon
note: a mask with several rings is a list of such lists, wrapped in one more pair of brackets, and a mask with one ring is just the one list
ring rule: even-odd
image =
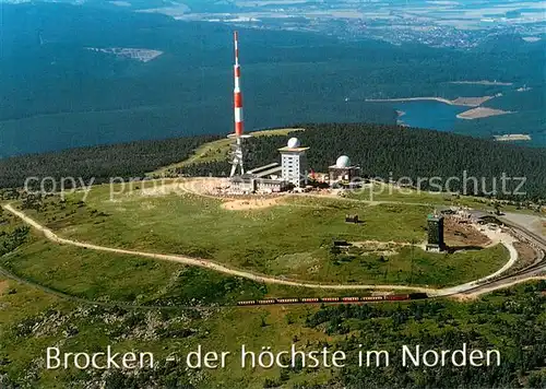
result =
[{"label": "green grassy strip between the pale path and railway line, at left", "polygon": [[[0,226],[2,247],[8,245],[12,233],[20,226],[14,217],[3,219]],[[28,232],[15,250],[0,258],[0,272],[2,269],[44,292],[90,304],[224,306],[252,298],[314,297],[324,293],[332,296],[369,294],[366,291],[324,292],[320,288],[265,285],[180,263],[61,246],[34,232]],[[9,290],[8,283],[0,283],[0,292]]]}]

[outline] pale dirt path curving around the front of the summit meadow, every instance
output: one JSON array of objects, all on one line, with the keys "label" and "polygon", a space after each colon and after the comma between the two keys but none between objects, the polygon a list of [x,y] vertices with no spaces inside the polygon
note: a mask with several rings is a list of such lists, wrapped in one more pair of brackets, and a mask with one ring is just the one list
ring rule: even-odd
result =
[{"label": "pale dirt path curving around the front of the summit meadow", "polygon": [[[404,285],[347,285],[347,284],[321,284],[321,283],[309,283],[309,282],[299,282],[299,281],[292,281],[292,280],[286,280],[286,279],[281,279],[281,278],[275,278],[275,276],[268,276],[268,275],[262,275],[262,274],[256,274],[252,272],[248,271],[242,271],[238,269],[233,269],[233,268],[227,268],[223,264],[212,262],[210,260],[204,260],[204,259],[197,259],[197,258],[191,258],[191,257],[186,257],[186,256],[179,256],[179,255],[164,255],[164,254],[155,254],[155,252],[146,252],[146,251],[135,251],[135,250],[126,250],[126,249],[120,249],[120,248],[112,248],[112,247],[106,247],[106,246],[99,246],[99,245],[94,245],[94,244],[88,244],[88,243],[82,243],[82,241],[76,241],[72,239],[66,239],[57,234],[55,234],[51,229],[47,228],[46,226],[43,226],[32,217],[27,216],[21,211],[15,210],[11,204],[4,204],[2,205],[7,211],[11,212],[12,214],[16,215],[21,220],[23,220],[25,223],[28,225],[33,226],[37,231],[40,231],[49,240],[61,244],[61,245],[71,245],[75,247],[82,247],[86,249],[92,249],[92,250],[97,250],[97,251],[106,251],[106,252],[115,252],[115,254],[121,254],[121,255],[131,255],[131,256],[139,256],[139,257],[145,257],[145,258],[152,258],[152,259],[158,259],[158,260],[164,260],[164,261],[171,261],[171,262],[178,262],[182,264],[189,264],[189,266],[197,266],[210,270],[214,270],[224,274],[229,274],[234,276],[240,276],[245,278],[248,280],[252,280],[256,282],[260,283],[266,283],[266,284],[278,284],[278,285],[287,285],[287,286],[298,286],[298,287],[309,287],[309,288],[322,288],[322,290],[382,290],[382,291],[416,291],[416,292],[424,292],[427,293],[430,296],[446,296],[449,294],[454,294],[454,293],[462,293],[465,290],[471,290],[476,286],[476,284],[479,284],[484,282],[485,280],[488,280],[489,278],[492,278],[494,275],[498,275],[500,271],[497,271],[495,274],[488,275],[486,278],[483,278],[480,280],[476,280],[473,282],[465,283],[463,285],[454,286],[454,287],[449,287],[449,288],[443,288],[443,290],[434,290],[434,288],[428,288],[428,287],[418,287],[418,286],[404,286]],[[505,244],[505,241],[502,241]],[[512,246],[513,249],[513,246]],[[512,250],[510,250],[510,261],[502,268],[508,268],[509,264],[513,263],[513,254]],[[513,250],[515,252],[515,250]],[[515,252],[515,256],[518,254]],[[521,282],[525,281],[525,279],[522,279]],[[497,288],[503,287],[502,285],[498,286]]]}]

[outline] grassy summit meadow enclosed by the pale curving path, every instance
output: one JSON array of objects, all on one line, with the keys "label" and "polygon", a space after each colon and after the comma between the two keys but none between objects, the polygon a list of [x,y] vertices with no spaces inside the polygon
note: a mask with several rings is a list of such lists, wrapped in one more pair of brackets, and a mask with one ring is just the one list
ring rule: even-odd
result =
[{"label": "grassy summit meadow enclosed by the pale curving path", "polygon": [[[232,211],[222,207],[226,200],[188,193],[168,181],[163,192],[153,184],[143,181],[123,193],[115,188],[111,201],[109,187],[97,186],[85,202],[82,193],[66,202],[52,197],[39,212],[24,211],[74,240],[320,283],[454,285],[494,272],[508,258],[501,246],[425,252],[426,216],[432,211],[425,204],[287,196],[274,207]],[[346,214],[358,214],[364,223],[346,223]],[[351,247],[340,249],[334,241]]]}]

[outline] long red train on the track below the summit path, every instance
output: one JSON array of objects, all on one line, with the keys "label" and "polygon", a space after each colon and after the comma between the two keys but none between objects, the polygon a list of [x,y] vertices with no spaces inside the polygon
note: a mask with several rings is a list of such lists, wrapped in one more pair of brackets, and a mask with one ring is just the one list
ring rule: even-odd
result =
[{"label": "long red train on the track below the summit path", "polygon": [[238,302],[239,306],[248,305],[274,305],[274,304],[319,304],[319,303],[373,303],[373,302],[403,302],[406,299],[428,298],[426,293],[389,294],[384,296],[361,296],[361,297],[293,297],[293,298],[266,298],[248,299]]}]

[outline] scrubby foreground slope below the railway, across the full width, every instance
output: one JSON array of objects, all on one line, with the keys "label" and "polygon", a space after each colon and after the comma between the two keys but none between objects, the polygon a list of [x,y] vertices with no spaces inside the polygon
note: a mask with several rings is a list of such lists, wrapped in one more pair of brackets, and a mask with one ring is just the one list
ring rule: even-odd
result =
[{"label": "scrubby foreground slope below the railway, across the full width", "polygon": [[[23,294],[21,290],[20,286],[15,292]],[[51,388],[59,385],[72,387],[78,382],[109,389],[546,387],[546,281],[498,291],[465,303],[434,299],[411,304],[323,305],[305,311],[294,311],[292,307],[293,313],[284,309],[283,314],[270,308],[145,313],[122,307],[52,305],[38,314],[13,320],[0,334],[0,344],[10,350],[16,345],[35,357],[17,363],[19,369],[15,369],[11,367],[16,363],[13,354],[0,354],[5,362],[0,365],[0,378],[3,378],[0,382],[3,388],[39,387],[40,384],[48,384],[47,387]],[[282,316],[282,319],[275,319],[276,316]],[[107,322],[107,319],[110,321]],[[238,321],[226,326],[227,320],[234,319]],[[214,346],[226,346],[226,339],[232,337],[229,341],[233,343],[227,343],[227,350],[236,353],[242,339],[256,339],[256,342],[271,345],[273,350],[278,350],[278,342],[282,342],[287,350],[285,339],[288,338],[288,344],[294,343],[298,350],[309,352],[327,347],[331,353],[343,351],[347,361],[358,361],[356,354],[360,344],[364,350],[389,351],[392,357],[388,367],[358,367],[356,363],[347,363],[343,368],[332,368],[331,375],[324,375],[324,368],[302,367],[300,361],[296,359],[294,367],[272,372],[249,369],[241,374],[240,365],[230,365],[226,369],[229,378],[226,378],[219,376],[222,372],[218,369],[203,368],[195,372],[183,363],[161,359],[153,369],[112,369],[108,374],[91,368],[79,372],[69,369],[51,376],[32,365],[37,365],[34,361],[41,355],[41,350],[29,346],[33,339],[44,338],[36,334],[36,329],[44,331],[45,323],[50,322],[59,325],[48,325],[47,339],[59,339],[66,346],[90,344],[95,347],[93,350],[102,350],[105,339],[118,346],[121,342],[121,350],[126,350],[123,344],[127,343],[123,342],[129,339],[136,347],[141,344],[156,347],[157,354],[159,350],[166,349],[165,353],[170,353],[179,350],[178,346],[187,351],[195,343],[207,344],[216,350]],[[239,332],[234,332],[230,327]],[[136,338],[135,334],[144,332],[142,328],[147,328],[153,338]],[[302,333],[314,335],[306,337]],[[500,366],[402,367],[397,353],[404,344],[441,351],[460,349],[462,343],[466,343],[470,350],[498,350]],[[283,364],[292,365],[292,361],[285,358]],[[10,374],[2,376],[7,372]],[[249,386],[251,379],[254,385]]]}]

